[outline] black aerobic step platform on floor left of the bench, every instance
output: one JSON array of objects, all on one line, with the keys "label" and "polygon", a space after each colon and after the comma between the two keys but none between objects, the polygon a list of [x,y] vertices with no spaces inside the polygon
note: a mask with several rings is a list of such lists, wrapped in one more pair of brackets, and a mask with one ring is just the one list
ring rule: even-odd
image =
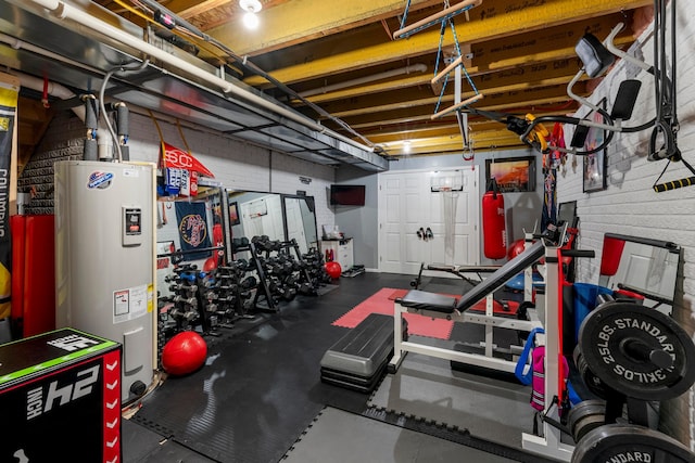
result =
[{"label": "black aerobic step platform on floor left of the bench", "polygon": [[[407,322],[403,319],[403,338]],[[321,381],[371,393],[393,355],[393,317],[370,313],[324,353]]]}]

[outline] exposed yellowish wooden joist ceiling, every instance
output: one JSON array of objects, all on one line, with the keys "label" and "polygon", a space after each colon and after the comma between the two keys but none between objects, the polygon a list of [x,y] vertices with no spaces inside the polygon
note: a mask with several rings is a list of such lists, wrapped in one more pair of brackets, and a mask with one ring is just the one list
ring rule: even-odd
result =
[{"label": "exposed yellowish wooden joist ceiling", "polygon": [[[112,0],[96,1],[117,9]],[[408,39],[393,40],[391,35],[400,27],[405,12],[404,0],[262,0],[262,26],[249,31],[241,25],[243,12],[238,0],[163,2],[237,56],[247,56],[294,92],[309,95],[305,101],[288,95],[242,63],[227,59],[229,66],[243,74],[245,83],[357,140],[344,129],[346,124],[369,142],[386,146],[387,154],[399,156],[403,155],[399,144],[404,140],[412,140],[415,155],[462,152],[460,129],[454,113],[431,120],[437,107],[441,110],[454,102],[453,73],[441,97],[440,87],[432,86],[430,80],[435,70],[446,66],[447,60],[457,57],[456,43],[472,80],[472,86],[464,80],[460,98],[475,94],[475,87],[484,95],[475,104],[478,110],[520,116],[571,113],[578,103],[567,95],[566,87],[581,66],[574,51],[578,40],[585,33],[603,40],[616,24],[623,22],[628,27],[618,35],[616,44],[629,47],[634,41],[630,26],[635,17],[649,17],[653,1],[483,0],[454,20],[456,40],[451,28],[441,37],[439,26]],[[445,7],[443,1],[432,0],[410,3],[407,24]],[[443,38],[441,49],[440,38]],[[213,54],[222,53],[211,53],[211,43],[202,46],[205,49],[201,56],[208,56],[219,65],[219,59]],[[410,66],[417,66],[418,70],[371,78]],[[595,83],[584,76],[573,91],[590,95]],[[468,124],[476,149],[525,146],[504,124],[476,115],[469,116]]]}]

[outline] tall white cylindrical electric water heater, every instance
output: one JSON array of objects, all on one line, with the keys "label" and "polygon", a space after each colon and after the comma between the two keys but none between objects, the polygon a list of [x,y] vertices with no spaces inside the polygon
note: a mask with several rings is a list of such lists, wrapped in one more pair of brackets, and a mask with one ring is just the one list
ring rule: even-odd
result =
[{"label": "tall white cylindrical electric water heater", "polygon": [[123,401],[154,376],[153,169],[55,163],[55,324],[123,345]]}]

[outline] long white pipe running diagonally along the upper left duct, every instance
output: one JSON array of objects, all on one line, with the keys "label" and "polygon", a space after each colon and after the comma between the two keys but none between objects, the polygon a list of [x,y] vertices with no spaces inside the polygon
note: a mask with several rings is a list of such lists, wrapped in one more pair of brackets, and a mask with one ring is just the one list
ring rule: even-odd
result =
[{"label": "long white pipe running diagonally along the upper left duct", "polygon": [[[233,83],[228,82],[227,80],[215,76],[206,70],[200,69],[195,66],[192,66],[189,62],[181,60],[173,54],[167,53],[164,50],[161,50],[143,40],[140,40],[128,33],[125,33],[117,27],[112,26],[109,23],[105,23],[99,18],[93,17],[92,15],[85,13],[84,11],[76,9],[63,1],[60,0],[28,0],[31,3],[35,3],[39,7],[42,7],[49,10],[55,17],[60,20],[72,20],[76,23],[81,24],[83,26],[98,33],[101,35],[105,35],[106,37],[119,41],[128,47],[131,47],[136,50],[140,50],[142,53],[154,57],[163,63],[167,63],[174,67],[177,67],[181,72],[186,74],[191,74],[210,85],[219,88],[224,93],[231,93],[239,98],[242,98],[257,106],[266,108],[275,114],[278,114],[282,117],[287,117],[298,124],[303,125],[312,130],[316,130],[321,133],[326,133],[328,129],[323,127],[319,124],[314,123],[313,120],[299,115],[292,111],[289,111],[278,104],[269,102],[254,93],[249,92]],[[353,146],[356,146],[364,151],[372,151],[370,147],[363,145],[361,143],[355,142],[346,137],[342,137],[339,133],[330,133],[331,137],[341,139],[345,143],[350,143]]]}]

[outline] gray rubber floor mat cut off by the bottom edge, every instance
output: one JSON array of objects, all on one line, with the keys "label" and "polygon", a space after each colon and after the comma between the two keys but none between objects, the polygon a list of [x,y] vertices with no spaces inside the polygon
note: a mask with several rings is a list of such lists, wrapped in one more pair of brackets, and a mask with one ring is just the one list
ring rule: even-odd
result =
[{"label": "gray rubber floor mat cut off by the bottom edge", "polygon": [[342,410],[324,409],[282,463],[514,462]]}]

